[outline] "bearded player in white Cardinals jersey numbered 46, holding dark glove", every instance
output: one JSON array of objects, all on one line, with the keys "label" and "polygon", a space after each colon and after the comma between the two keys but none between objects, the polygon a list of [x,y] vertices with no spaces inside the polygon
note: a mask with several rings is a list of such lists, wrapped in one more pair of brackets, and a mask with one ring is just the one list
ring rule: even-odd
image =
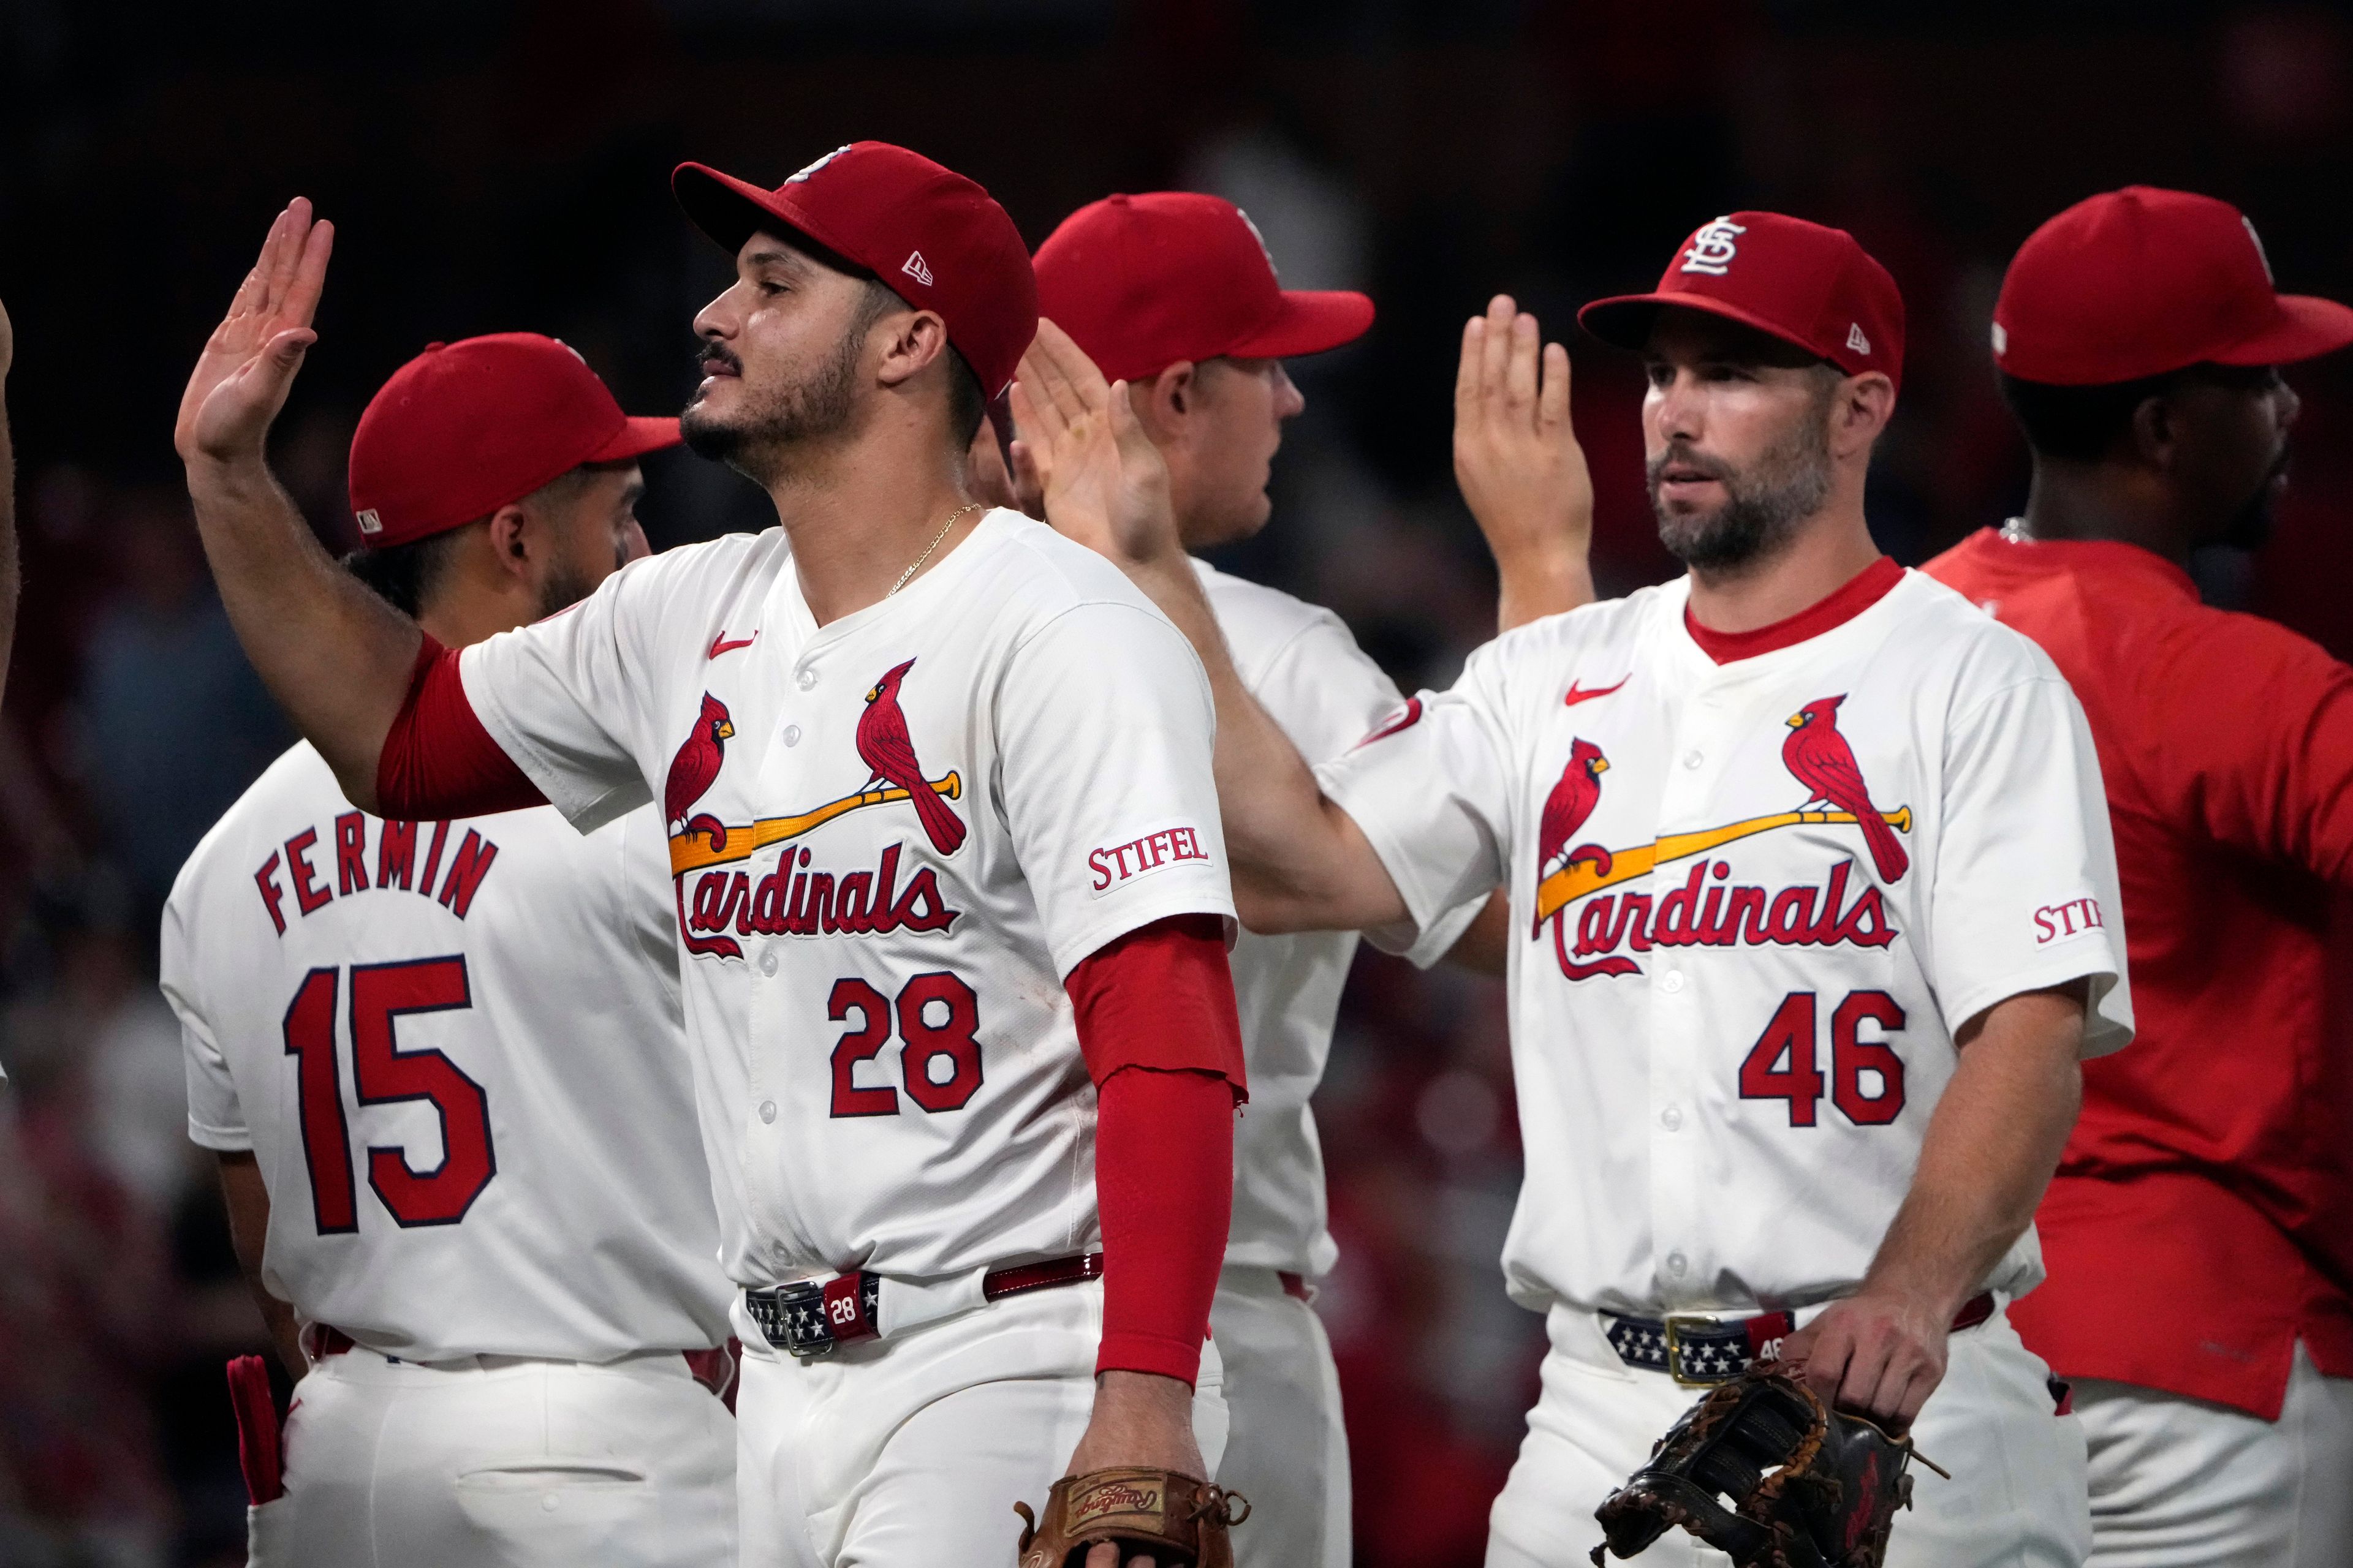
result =
[{"label": "bearded player in white Cardinals jersey numbered 46, holding dark glove", "polygon": [[[2082,712],[1871,543],[1904,315],[1852,237],[1729,214],[1581,320],[1645,357],[1689,576],[1499,637],[1322,769],[1235,677],[1148,487],[1080,487],[1068,522],[1202,651],[1245,924],[1426,933],[1511,891],[1504,1267],[1553,1347],[1489,1561],[1588,1552],[1692,1387],[1784,1356],[1953,1474],[1889,1561],[2075,1563],[2082,1436],[2005,1300],[2040,1276],[2078,1058],[2129,1037]],[[1148,468],[1052,329],[1024,388],[1082,470]]]}]

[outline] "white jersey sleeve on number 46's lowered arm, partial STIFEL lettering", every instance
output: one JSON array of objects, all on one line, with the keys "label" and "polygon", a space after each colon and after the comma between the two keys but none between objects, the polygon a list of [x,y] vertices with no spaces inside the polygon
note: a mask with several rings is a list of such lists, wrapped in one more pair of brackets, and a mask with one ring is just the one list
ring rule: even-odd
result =
[{"label": "white jersey sleeve on number 46's lowered arm, partial STIFEL lettering", "polygon": [[1946,748],[1929,903],[1946,1018],[1958,1030],[2007,997],[2089,978],[2082,1053],[2122,1048],[2132,992],[2118,985],[2115,842],[2082,703],[2049,668],[1955,712]]}]

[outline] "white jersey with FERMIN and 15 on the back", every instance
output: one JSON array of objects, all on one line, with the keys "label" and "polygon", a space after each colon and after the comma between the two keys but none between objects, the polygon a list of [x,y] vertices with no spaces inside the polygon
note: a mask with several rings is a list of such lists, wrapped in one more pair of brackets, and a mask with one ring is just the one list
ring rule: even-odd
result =
[{"label": "white jersey with FERMIN and 15 on the back", "polygon": [[727,1338],[649,811],[355,811],[308,743],[205,835],[162,917],[188,1133],[252,1150],[261,1272],[414,1361]]}]

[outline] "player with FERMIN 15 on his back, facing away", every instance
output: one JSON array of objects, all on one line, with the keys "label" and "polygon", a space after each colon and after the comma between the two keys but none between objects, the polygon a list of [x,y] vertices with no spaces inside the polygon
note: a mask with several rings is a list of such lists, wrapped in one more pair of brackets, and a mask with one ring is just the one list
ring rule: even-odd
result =
[{"label": "player with FERMIN 15 on his back, facing away", "polygon": [[[638,458],[675,444],[553,339],[435,343],[360,416],[351,569],[475,644],[645,555]],[[188,858],[188,1133],[299,1380],[254,1563],[732,1561],[666,882],[652,809],[386,820],[308,743]],[[275,1443],[266,1396],[238,1415]]]}]

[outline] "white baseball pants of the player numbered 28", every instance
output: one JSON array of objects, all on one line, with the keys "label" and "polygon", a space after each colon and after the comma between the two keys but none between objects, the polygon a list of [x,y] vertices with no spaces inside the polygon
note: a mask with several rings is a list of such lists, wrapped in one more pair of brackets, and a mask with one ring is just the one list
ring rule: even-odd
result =
[{"label": "white baseball pants of the player numbered 28", "polygon": [[[769,1349],[736,1305],[744,1568],[1005,1568],[1094,1410],[1104,1286],[1012,1295],[819,1361]],[[1193,1434],[1226,1448],[1214,1347]],[[1247,1526],[1245,1526],[1247,1528]]]}]

